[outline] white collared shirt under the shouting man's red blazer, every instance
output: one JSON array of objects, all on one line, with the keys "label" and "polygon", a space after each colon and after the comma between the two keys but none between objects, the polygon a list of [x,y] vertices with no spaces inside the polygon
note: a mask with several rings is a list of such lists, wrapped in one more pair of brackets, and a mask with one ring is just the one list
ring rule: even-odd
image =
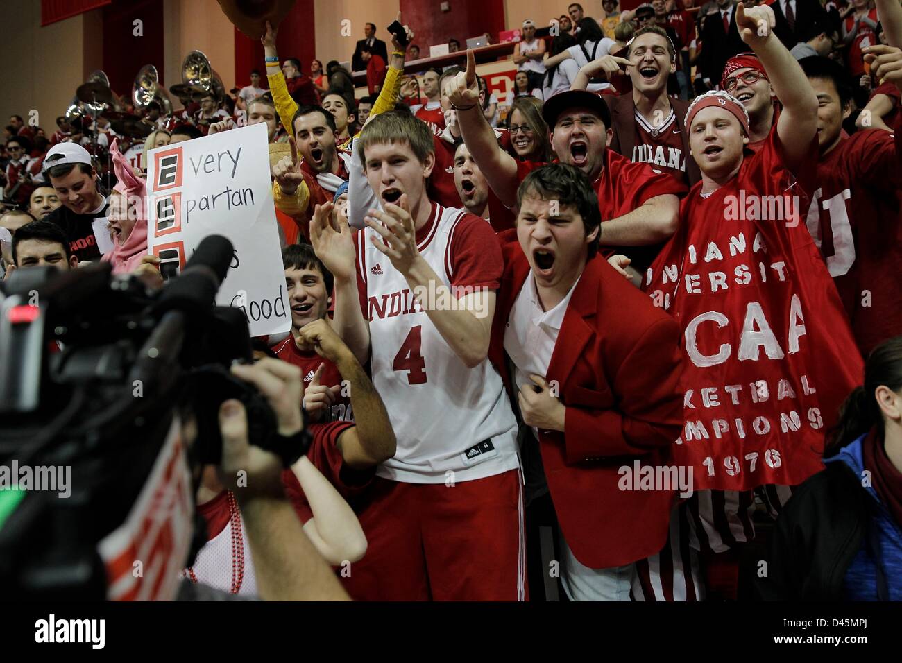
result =
[{"label": "white collared shirt under the shouting man's red blazer", "polygon": [[555,352],[557,335],[564,324],[566,308],[577,283],[579,279],[576,279],[564,299],[548,311],[542,308],[538,299],[536,279],[532,272],[529,272],[520,288],[504,330],[504,350],[514,364],[513,378],[518,390],[524,384],[533,383],[529,375],[548,375],[548,364],[551,364],[551,355]]}]

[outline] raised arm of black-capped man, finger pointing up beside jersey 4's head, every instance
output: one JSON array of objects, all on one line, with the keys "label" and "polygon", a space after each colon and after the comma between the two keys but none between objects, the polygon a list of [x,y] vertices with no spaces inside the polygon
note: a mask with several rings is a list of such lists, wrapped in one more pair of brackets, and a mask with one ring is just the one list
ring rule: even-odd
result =
[{"label": "raised arm of black-capped man, finger pointing up beside jersey 4's head", "polygon": [[514,207],[517,203],[517,161],[502,150],[495,131],[483,115],[479,105],[479,83],[476,80],[476,60],[473,51],[466,51],[466,71],[450,79],[448,97],[457,111],[457,125],[473,160],[479,164],[485,180],[502,204]]}]

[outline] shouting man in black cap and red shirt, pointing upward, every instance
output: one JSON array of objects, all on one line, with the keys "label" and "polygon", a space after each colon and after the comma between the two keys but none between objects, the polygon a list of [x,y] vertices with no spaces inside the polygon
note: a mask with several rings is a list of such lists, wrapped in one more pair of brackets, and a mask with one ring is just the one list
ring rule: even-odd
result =
[{"label": "shouting man in black cap and red shirt, pointing upward", "polygon": [[[472,52],[467,53],[466,71],[457,74],[450,87],[450,101],[457,106],[457,121],[470,153],[502,204],[516,207],[520,181],[543,164],[517,161],[498,147],[492,127],[475,107],[478,87]],[[630,247],[661,244],[674,234],[678,196],[686,192],[686,185],[647,163],[633,163],[606,149],[612,138],[611,115],[602,97],[585,90],[561,92],[545,102],[542,115],[558,161],[582,170],[593,183],[602,214],[603,253],[630,256]]]}]

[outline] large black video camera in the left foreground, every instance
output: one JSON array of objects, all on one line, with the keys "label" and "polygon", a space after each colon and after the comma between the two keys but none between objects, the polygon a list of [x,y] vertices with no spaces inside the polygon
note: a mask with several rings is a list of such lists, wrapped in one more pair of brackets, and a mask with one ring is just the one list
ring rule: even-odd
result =
[{"label": "large black video camera in the left foreground", "polygon": [[[111,563],[98,553],[98,543],[108,548],[111,532],[118,534],[126,520],[134,520],[139,507],[147,519],[144,525],[132,523],[133,529],[152,530],[179,499],[182,511],[194,517],[200,465],[217,465],[221,459],[218,410],[227,399],[243,401],[252,444],[286,463],[306,451],[284,448],[286,439],[277,434],[269,403],[229,372],[235,361],[253,361],[244,314],[215,306],[232,254],[226,238],[210,235],[182,273],[156,292],[133,276],[112,277],[106,263],[70,272],[16,270],[5,281],[0,297],[0,586],[5,599],[113,597]],[[189,468],[184,462],[166,465],[161,456],[164,450],[179,450],[173,435],[185,437],[180,428],[186,425],[197,431],[194,444],[181,445],[179,457],[187,455]],[[13,466],[35,472],[70,468],[71,493],[63,499],[56,492],[8,490],[2,473]],[[162,493],[148,486],[152,475],[164,481],[189,471],[187,500],[182,494],[164,504]],[[187,492],[183,486],[180,493]],[[160,503],[144,503],[148,500]],[[181,539],[189,530],[179,529]],[[205,540],[203,528],[194,531],[191,555],[176,555],[181,558],[162,567],[156,559],[156,573],[187,566]],[[164,531],[157,539],[174,536]],[[153,550],[160,548],[157,544]]]}]

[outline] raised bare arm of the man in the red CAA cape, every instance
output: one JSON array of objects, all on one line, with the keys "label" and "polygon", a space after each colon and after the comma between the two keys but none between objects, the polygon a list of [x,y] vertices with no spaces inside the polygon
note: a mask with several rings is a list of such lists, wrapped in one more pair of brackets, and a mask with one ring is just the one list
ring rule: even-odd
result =
[{"label": "raised bare arm of the man in the red CAA cape", "polygon": [[787,47],[773,33],[774,10],[769,5],[745,9],[736,5],[736,25],[742,41],[751,47],[768,73],[783,112],[777,121],[777,134],[783,144],[787,166],[796,170],[809,156],[817,134],[817,97],[805,72]]}]

